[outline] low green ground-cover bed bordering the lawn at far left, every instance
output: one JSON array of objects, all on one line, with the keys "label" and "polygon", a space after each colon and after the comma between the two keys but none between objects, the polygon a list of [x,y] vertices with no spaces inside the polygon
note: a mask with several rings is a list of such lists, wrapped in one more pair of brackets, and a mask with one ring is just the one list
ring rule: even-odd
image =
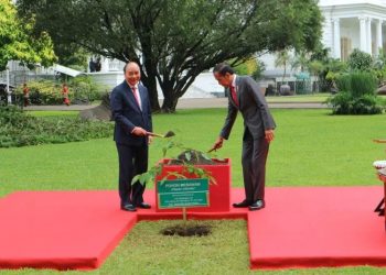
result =
[{"label": "low green ground-cover bed bordering the lawn at far left", "polygon": [[0,147],[67,143],[110,136],[109,122],[78,118],[34,118],[13,106],[0,107]]}]

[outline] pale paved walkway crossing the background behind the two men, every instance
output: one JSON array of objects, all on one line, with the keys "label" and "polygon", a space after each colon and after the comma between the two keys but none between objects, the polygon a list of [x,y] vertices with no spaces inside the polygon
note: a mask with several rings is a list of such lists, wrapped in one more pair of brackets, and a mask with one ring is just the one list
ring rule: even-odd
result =
[{"label": "pale paved walkway crossing the background behind the two men", "polygon": [[[200,109],[200,108],[226,108],[227,98],[186,98],[180,99],[176,109]],[[320,102],[270,102],[268,106],[272,109],[322,109],[328,108]],[[29,106],[24,108],[28,111],[81,111],[94,108],[93,105],[73,105],[73,106]]]}]

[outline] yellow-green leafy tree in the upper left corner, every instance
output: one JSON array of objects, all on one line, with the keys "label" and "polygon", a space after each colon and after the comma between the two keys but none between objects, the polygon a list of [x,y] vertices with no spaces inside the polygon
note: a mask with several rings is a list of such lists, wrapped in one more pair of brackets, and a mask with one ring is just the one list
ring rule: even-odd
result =
[{"label": "yellow-green leafy tree in the upper left corner", "polygon": [[26,65],[51,65],[55,61],[52,41],[46,32],[33,33],[33,20],[23,23],[18,19],[15,7],[9,0],[0,0],[0,70],[9,61]]}]

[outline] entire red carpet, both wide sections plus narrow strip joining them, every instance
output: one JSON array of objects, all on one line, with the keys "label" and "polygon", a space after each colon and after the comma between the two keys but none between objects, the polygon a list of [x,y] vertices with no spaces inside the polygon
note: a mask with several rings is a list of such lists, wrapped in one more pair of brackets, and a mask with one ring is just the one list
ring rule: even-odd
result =
[{"label": "entire red carpet, both wide sections plus narrow strip joining them", "polygon": [[[230,201],[243,194],[233,189]],[[148,202],[154,197],[147,190]],[[253,268],[384,266],[384,217],[373,212],[382,197],[382,187],[267,188],[261,211],[189,217],[248,219]],[[181,218],[154,207],[125,212],[118,201],[117,191],[25,191],[0,199],[0,268],[96,268],[137,221]]]}]

